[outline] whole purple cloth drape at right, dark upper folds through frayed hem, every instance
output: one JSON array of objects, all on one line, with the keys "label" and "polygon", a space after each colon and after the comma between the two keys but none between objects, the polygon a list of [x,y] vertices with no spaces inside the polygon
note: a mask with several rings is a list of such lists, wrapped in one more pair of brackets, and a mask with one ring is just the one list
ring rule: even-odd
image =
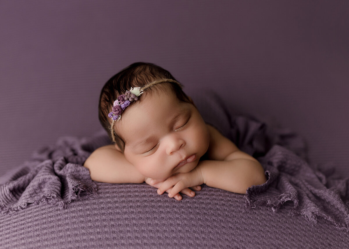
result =
[{"label": "whole purple cloth drape at right, dark upper folds through frayed hem", "polygon": [[304,138],[288,129],[270,128],[248,115],[230,121],[230,139],[259,160],[268,179],[247,189],[247,207],[269,206],[277,212],[289,206],[292,215],[303,215],[311,224],[324,218],[349,232],[349,177],[333,178],[331,162],[310,165]]}]

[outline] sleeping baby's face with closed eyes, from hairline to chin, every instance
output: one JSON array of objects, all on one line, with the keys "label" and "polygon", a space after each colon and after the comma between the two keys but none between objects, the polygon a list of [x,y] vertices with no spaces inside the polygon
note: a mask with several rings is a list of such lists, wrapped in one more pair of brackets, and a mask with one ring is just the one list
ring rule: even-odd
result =
[{"label": "sleeping baby's face with closed eyes, from hairline to chin", "polygon": [[170,90],[155,90],[127,107],[116,123],[126,159],[149,178],[166,179],[198,165],[209,145],[205,122],[193,104]]}]

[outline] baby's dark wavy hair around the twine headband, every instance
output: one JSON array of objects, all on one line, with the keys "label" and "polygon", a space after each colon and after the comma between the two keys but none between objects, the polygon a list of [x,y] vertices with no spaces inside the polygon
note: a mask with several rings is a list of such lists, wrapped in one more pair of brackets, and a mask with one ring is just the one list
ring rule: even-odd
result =
[{"label": "baby's dark wavy hair around the twine headband", "polygon": [[[170,80],[170,82],[165,82],[164,84],[170,86],[180,101],[191,103],[190,98],[183,92],[181,86],[170,72],[153,63],[133,63],[122,69],[104,84],[101,95],[99,96],[98,119],[109,134],[110,140],[115,142],[122,151],[125,149],[125,142],[111,127],[112,120],[108,116],[112,110],[114,101],[119,95],[124,94],[126,90],[130,90],[131,87],[143,87],[150,82],[162,79]],[[171,82],[171,80],[174,82]]]}]

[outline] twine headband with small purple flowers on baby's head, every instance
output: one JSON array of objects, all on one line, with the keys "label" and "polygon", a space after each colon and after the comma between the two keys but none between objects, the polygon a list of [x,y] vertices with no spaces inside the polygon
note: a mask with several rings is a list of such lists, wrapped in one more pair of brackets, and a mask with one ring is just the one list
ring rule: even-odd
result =
[{"label": "twine headband with small purple flowers on baby's head", "polygon": [[179,85],[182,88],[181,84],[178,81],[171,79],[161,79],[157,81],[150,82],[142,87],[135,87],[127,90],[125,94],[121,94],[118,96],[117,100],[113,103],[112,111],[108,114],[109,118],[113,120],[110,126],[110,133],[114,143],[116,143],[114,125],[115,121],[119,121],[121,119],[121,113],[125,110],[127,106],[129,106],[133,101],[139,100],[139,96],[143,93],[143,90],[150,88],[153,85],[165,82],[172,82]]}]

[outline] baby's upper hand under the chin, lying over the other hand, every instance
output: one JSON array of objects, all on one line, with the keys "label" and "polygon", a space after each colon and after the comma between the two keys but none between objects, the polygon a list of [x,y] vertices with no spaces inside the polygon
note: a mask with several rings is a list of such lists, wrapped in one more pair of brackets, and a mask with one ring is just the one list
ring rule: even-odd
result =
[{"label": "baby's upper hand under the chin, lying over the other hand", "polygon": [[164,191],[166,191],[169,193],[169,197],[175,197],[179,192],[183,193],[183,191],[186,191],[188,187],[198,187],[201,184],[203,184],[202,174],[198,167],[196,167],[188,173],[178,173],[169,177],[162,182],[161,186],[157,190],[157,193],[162,195]]}]

